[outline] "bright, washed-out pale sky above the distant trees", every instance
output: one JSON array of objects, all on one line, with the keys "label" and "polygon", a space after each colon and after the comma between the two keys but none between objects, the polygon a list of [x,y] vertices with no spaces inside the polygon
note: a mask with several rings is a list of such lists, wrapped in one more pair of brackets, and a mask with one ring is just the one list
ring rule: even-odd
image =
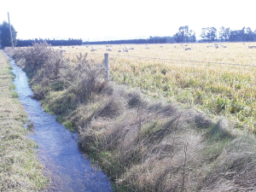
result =
[{"label": "bright, washed-out pale sky above the distant trees", "polygon": [[189,26],[256,29],[255,0],[3,0],[0,22],[10,21],[17,38],[148,38],[172,36]]}]

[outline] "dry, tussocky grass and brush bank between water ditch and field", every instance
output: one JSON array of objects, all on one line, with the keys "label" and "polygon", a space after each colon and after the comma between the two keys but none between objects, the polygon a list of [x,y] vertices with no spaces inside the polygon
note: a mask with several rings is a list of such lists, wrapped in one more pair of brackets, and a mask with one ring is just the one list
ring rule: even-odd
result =
[{"label": "dry, tussocky grass and brush bank between water ditch and field", "polygon": [[241,191],[256,187],[256,140],[225,119],[154,100],[104,78],[86,55],[48,44],[15,51],[34,97],[79,133],[79,147],[117,191]]}]

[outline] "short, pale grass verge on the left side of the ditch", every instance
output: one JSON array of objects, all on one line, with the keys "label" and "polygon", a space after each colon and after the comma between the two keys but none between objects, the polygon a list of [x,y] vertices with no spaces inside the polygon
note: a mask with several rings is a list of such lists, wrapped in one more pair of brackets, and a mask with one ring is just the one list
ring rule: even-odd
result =
[{"label": "short, pale grass verge on the left side of the ditch", "polygon": [[21,106],[8,58],[0,50],[0,191],[38,191],[46,185],[43,166],[24,128]]}]

